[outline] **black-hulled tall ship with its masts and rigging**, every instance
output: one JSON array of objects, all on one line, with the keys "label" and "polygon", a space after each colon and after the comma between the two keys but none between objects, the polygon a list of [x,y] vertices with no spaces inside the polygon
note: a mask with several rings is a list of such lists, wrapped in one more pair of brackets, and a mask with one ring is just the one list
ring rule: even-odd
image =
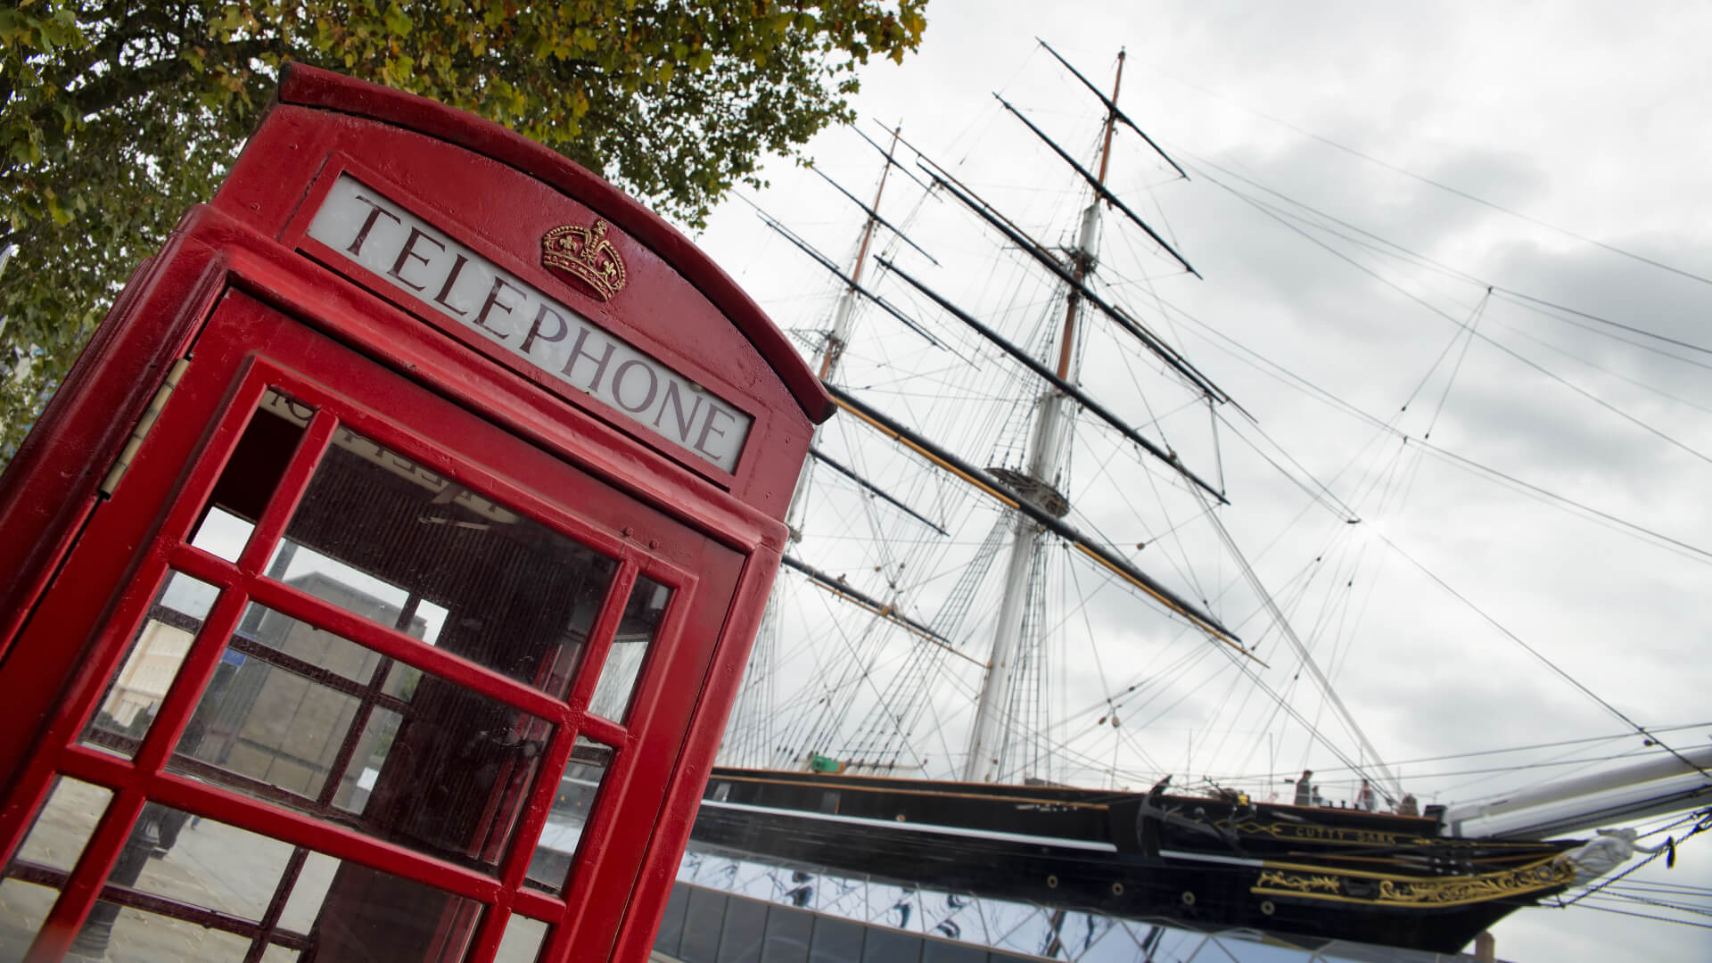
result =
[{"label": "black-hulled tall ship with its masts and rigging", "polygon": [[[820,175],[861,223],[853,250],[758,211],[769,264],[832,295],[798,334],[841,413],[794,493],[692,850],[803,881],[1438,953],[1656,852],[1601,831],[1705,807],[1695,737],[1623,718],[1642,757],[1467,805],[1387,766],[1330,677],[1361,617],[1351,545],[1364,511],[1407,497],[1409,435],[1356,483],[1270,444],[1185,344],[1209,339],[1173,305],[1205,283],[1168,226],[1190,175],[1125,113],[1123,55],[1096,82],[1043,50],[1056,113],[1096,123],[998,96],[1049,171],[1027,211],[988,197],[990,163],[878,127],[859,132],[873,194]],[[1157,192],[1116,192],[1125,163]],[[1443,408],[1457,365],[1447,350],[1426,370],[1418,408]],[[1305,493],[1296,521],[1318,531],[1289,584],[1246,555],[1236,468],[1253,464]],[[1161,761],[1168,740],[1185,764]],[[1205,759],[1221,768],[1186,769]],[[586,764],[563,812],[597,785]]]}]

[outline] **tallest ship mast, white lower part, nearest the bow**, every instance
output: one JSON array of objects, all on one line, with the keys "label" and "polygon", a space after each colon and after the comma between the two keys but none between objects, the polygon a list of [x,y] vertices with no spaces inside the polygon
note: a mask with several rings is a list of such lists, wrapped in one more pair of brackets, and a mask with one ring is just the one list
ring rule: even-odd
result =
[{"label": "tallest ship mast, white lower part, nearest the bow", "polygon": [[[1106,170],[1111,163],[1111,132],[1118,120],[1118,91],[1123,86],[1123,58],[1125,53],[1118,51],[1118,72],[1111,84],[1111,108],[1106,111],[1106,129],[1099,149],[1099,182],[1097,187],[1106,183]],[[1096,192],[1094,200],[1082,211],[1080,235],[1077,236],[1077,247],[1070,252],[1070,271],[1075,278],[1075,284],[1070,286],[1070,293],[1065,305],[1063,332],[1058,339],[1058,377],[1065,382],[1075,382],[1073,367],[1075,358],[1075,336],[1077,336],[1077,315],[1082,308],[1080,288],[1087,276],[1094,271],[1096,247],[1099,242],[1099,192]],[[1063,516],[1068,512],[1068,502],[1058,493],[1058,475],[1063,459],[1063,435],[1068,427],[1072,411],[1065,408],[1065,392],[1048,386],[1044,396],[1041,396],[1041,404],[1036,410],[1034,430],[1029,437],[1029,461],[1025,475],[1020,478],[1008,478],[1022,488],[1024,495],[1039,493],[1036,499],[1043,507],[1058,505],[1063,511],[1055,514]],[[1012,689],[1015,685],[1019,653],[1022,649],[1024,620],[1029,607],[1029,581],[1039,562],[1041,545],[1043,545],[1044,528],[1034,519],[1022,512],[1017,512],[1012,521],[1012,547],[1010,562],[1005,569],[1005,593],[1000,601],[998,624],[993,629],[993,649],[988,658],[986,680],[981,685],[981,699],[976,703],[974,728],[969,733],[969,756],[964,761],[964,781],[995,781],[1002,776],[1003,756],[1000,745],[1003,744],[1007,716],[1012,704]]]}]

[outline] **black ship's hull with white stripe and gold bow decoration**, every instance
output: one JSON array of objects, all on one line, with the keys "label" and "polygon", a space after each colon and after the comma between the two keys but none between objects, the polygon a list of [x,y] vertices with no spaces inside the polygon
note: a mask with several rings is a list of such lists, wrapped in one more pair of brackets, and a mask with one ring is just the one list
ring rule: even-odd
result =
[{"label": "black ship's hull with white stripe and gold bow decoration", "polygon": [[716,769],[692,846],[810,872],[1224,930],[1455,953],[1566,886],[1553,843],[1320,807]]}]

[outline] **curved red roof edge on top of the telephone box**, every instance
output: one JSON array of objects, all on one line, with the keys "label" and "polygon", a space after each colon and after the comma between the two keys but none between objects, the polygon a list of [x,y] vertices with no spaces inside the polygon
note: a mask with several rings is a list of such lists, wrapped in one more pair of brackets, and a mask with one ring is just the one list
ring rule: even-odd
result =
[{"label": "curved red roof edge on top of the telephone box", "polygon": [[736,281],[659,214],[558,151],[428,98],[303,63],[286,63],[282,69],[279,101],[334,110],[447,141],[575,197],[652,248],[695,284],[755,346],[811,422],[825,422],[832,415],[832,398],[820,379]]}]

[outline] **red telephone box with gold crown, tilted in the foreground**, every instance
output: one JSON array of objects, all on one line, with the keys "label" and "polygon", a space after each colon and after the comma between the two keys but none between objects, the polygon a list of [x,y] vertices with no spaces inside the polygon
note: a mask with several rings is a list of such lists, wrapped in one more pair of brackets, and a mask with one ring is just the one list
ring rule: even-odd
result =
[{"label": "red telephone box with gold crown, tilted in the foreground", "polygon": [[829,413],[613,187],[289,69],[0,478],[0,958],[645,958]]}]

